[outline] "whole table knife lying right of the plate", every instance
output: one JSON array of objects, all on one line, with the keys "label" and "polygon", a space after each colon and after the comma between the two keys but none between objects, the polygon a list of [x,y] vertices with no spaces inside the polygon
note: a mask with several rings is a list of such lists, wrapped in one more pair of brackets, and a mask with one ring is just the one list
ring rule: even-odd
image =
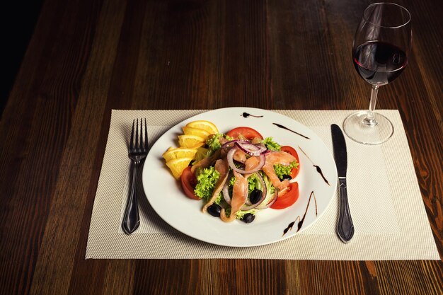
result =
[{"label": "whole table knife lying right of the plate", "polygon": [[338,172],[338,183],[340,191],[340,215],[338,216],[337,234],[343,243],[350,241],[354,236],[354,224],[352,224],[351,212],[347,203],[346,190],[346,170],[347,170],[347,152],[346,141],[343,132],[338,125],[330,125],[332,133],[335,165]]}]

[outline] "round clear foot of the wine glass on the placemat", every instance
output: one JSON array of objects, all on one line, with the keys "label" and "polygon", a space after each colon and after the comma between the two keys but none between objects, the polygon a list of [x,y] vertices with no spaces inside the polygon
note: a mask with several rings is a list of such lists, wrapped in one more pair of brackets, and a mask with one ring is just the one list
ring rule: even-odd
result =
[{"label": "round clear foot of the wine glass on the placemat", "polygon": [[392,137],[393,125],[384,115],[374,112],[376,124],[369,125],[364,120],[368,111],[362,110],[348,116],[343,122],[347,137],[360,144],[382,144]]}]

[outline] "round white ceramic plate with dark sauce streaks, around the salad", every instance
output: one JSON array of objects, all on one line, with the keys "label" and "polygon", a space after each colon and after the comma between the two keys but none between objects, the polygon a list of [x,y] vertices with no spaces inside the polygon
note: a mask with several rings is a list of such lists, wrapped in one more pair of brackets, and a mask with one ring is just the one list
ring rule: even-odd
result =
[{"label": "round white ceramic plate with dark sauce streaks, around the salad", "polygon": [[[170,146],[178,146],[177,135],[183,134],[181,127],[194,120],[211,121],[222,133],[234,127],[252,127],[263,137],[272,137],[281,145],[294,147],[299,154],[301,167],[297,176],[300,190],[297,202],[286,209],[261,210],[251,224],[238,220],[224,223],[217,217],[203,214],[203,202],[185,196],[180,182],[173,178],[161,157]],[[323,176],[318,173],[316,166],[321,169]],[[336,185],[337,170],[333,156],[311,129],[284,115],[257,108],[222,108],[180,122],[151,147],[143,171],[146,196],[164,221],[192,238],[233,247],[274,243],[311,226],[328,208]]]}]

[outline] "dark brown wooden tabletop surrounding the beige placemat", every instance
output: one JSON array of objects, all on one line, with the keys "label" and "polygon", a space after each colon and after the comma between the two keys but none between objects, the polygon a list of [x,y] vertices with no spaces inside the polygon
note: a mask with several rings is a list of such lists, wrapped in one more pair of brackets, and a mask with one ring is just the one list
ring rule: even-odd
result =
[{"label": "dark brown wooden tabletop surrounding the beige placemat", "polygon": [[[443,257],[443,2],[398,3],[413,50],[377,107],[400,110]],[[111,109],[367,108],[367,4],[46,0],[1,114],[0,293],[442,294],[441,260],[84,260]]]}]

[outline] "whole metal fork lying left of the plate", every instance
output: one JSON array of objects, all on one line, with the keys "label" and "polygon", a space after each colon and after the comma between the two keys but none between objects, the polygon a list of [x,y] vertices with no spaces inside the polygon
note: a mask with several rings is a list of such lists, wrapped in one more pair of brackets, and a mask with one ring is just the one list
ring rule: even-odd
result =
[{"label": "whole metal fork lying left of the plate", "polygon": [[[135,129],[135,143],[134,143]],[[132,179],[130,197],[127,200],[125,216],[123,217],[122,228],[125,233],[130,235],[138,229],[140,225],[139,204],[137,200],[137,173],[140,163],[148,154],[148,129],[146,128],[146,118],[144,119],[144,141],[143,141],[143,120],[140,119],[140,137],[139,137],[139,120],[137,123],[132,121],[132,132],[130,140],[130,149],[128,156],[132,160]]]}]

